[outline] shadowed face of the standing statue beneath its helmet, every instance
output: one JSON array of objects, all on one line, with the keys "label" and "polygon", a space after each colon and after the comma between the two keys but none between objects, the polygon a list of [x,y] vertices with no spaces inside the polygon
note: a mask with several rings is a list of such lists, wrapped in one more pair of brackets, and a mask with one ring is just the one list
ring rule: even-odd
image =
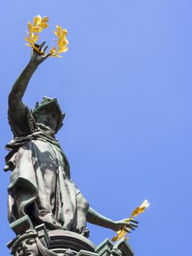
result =
[{"label": "shadowed face of the standing statue beneath its helmet", "polygon": [[50,127],[55,132],[58,124],[58,113],[52,105],[47,105],[42,110],[39,110],[36,121],[37,123],[44,124],[46,127]]}]

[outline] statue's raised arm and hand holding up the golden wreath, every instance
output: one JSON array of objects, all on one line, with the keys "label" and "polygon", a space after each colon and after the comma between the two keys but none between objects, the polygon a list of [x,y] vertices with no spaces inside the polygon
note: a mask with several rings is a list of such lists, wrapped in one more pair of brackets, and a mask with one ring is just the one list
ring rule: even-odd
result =
[{"label": "statue's raised arm and hand holding up the golden wreath", "polygon": [[[39,50],[42,50],[42,47],[45,45],[45,42],[42,45],[38,45]],[[46,50],[46,46],[44,50]],[[23,104],[22,98],[27,89],[28,82],[31,79],[31,76],[34,74],[35,70],[42,61],[47,59],[50,56],[48,53],[46,56],[41,55],[36,50],[31,51],[31,59],[27,64],[26,68],[20,74],[19,78],[15,81],[12,86],[12,90],[9,93],[9,112],[15,112],[19,116],[22,116],[25,113],[25,105]],[[17,115],[17,117],[18,117]],[[16,116],[15,116],[16,118]]]}]

